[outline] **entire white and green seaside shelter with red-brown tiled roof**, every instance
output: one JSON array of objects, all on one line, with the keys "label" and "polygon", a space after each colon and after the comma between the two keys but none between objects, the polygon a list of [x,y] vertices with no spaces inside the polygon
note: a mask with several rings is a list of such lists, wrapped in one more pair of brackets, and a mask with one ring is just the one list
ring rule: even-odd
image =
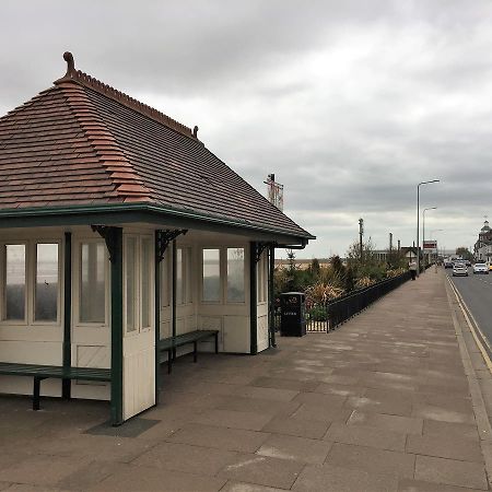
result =
[{"label": "entire white and green seaside shelter with red-brown tiled roof", "polygon": [[274,344],[276,248],[314,236],[194,130],[75,70],[0,118],[0,393],[157,403],[159,364]]}]

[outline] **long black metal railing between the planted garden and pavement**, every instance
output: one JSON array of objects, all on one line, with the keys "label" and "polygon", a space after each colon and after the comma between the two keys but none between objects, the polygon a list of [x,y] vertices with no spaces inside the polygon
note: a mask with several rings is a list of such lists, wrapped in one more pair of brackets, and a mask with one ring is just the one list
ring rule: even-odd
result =
[{"label": "long black metal railing between the planted garden and pavement", "polygon": [[[325,304],[316,304],[306,309],[306,331],[328,332],[350,319],[388,292],[410,280],[407,271],[398,277],[383,280],[373,285],[350,292]],[[276,309],[276,329],[280,328],[280,309]]]}]

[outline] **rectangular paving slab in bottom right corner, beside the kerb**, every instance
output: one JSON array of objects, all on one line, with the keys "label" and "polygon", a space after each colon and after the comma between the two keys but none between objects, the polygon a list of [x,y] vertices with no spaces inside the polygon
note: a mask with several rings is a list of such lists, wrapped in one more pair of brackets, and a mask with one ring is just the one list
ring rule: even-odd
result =
[{"label": "rectangular paving slab in bottom right corner, beside the kerb", "polygon": [[482,464],[455,459],[418,456],[414,478],[448,485],[471,487],[479,490],[489,489]]}]

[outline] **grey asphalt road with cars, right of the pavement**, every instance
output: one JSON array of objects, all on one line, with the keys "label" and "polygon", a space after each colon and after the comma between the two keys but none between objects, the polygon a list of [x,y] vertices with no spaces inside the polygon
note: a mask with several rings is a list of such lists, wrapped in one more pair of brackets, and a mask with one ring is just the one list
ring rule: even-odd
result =
[{"label": "grey asphalt road with cars, right of the pavement", "polygon": [[[431,273],[431,269],[425,274],[427,273]],[[455,283],[483,335],[492,344],[492,272],[478,274],[473,273],[472,268],[468,268],[468,277],[453,277],[453,270],[448,268],[446,273]]]}]

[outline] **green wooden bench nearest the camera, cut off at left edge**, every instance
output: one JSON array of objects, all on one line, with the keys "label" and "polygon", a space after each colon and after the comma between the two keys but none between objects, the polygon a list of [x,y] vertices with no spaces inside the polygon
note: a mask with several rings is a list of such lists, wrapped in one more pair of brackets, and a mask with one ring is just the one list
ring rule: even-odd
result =
[{"label": "green wooden bench nearest the camera, cut off at left edge", "polygon": [[0,374],[5,376],[31,376],[34,378],[33,410],[39,410],[39,389],[43,379],[112,380],[112,370],[96,367],[61,367],[58,365],[16,364],[0,362]]}]

